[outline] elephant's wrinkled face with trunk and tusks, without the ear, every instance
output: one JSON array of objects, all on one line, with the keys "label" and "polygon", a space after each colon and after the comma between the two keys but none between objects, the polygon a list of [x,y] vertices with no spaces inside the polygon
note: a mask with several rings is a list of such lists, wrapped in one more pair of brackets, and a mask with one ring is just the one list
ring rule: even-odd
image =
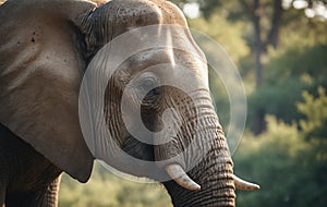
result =
[{"label": "elephant's wrinkled face with trunk and tusks, without the ear", "polygon": [[[257,185],[245,184],[233,175],[228,145],[209,96],[205,57],[189,29],[173,27],[186,26],[183,14],[166,1],[111,1],[98,12],[95,11],[95,19],[88,24],[94,25],[96,21],[96,25],[102,24],[102,29],[87,39],[92,42],[88,47],[96,51],[89,56],[102,54],[94,58],[88,70],[96,71],[94,82],[106,74],[101,70],[111,71],[102,109],[106,126],[119,149],[133,158],[155,161],[156,166],[123,159],[116,163],[119,156],[114,156],[114,150],[108,153],[110,147],[95,147],[96,157],[124,172],[159,181],[162,181],[162,171],[167,172],[174,182],[162,182],[175,206],[207,206],[206,203],[217,200],[220,205],[233,206],[234,181],[238,187],[256,188]],[[111,13],[119,15],[104,17]],[[149,25],[157,26],[148,28]],[[140,27],[146,27],[145,34],[130,33]],[[122,40],[117,44],[123,48],[133,48],[133,41],[142,45],[144,38],[156,39],[154,45],[165,44],[137,50],[111,69],[113,63],[108,60],[119,49],[114,44],[102,47],[119,35],[133,39],[131,45]],[[96,88],[89,92],[96,95],[93,99],[101,96],[97,86],[90,87]],[[106,143],[107,134],[97,134],[97,137],[102,136],[98,143]],[[175,197],[180,194],[184,196]],[[205,202],[195,199],[208,195],[213,196]]]}]

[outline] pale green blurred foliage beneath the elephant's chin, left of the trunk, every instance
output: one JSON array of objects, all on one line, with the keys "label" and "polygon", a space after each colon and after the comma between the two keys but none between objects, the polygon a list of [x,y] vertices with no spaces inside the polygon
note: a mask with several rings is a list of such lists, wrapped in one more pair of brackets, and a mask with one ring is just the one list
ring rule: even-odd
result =
[{"label": "pale green blurred foliage beneath the elephant's chin, left of the trunk", "polygon": [[138,183],[119,178],[95,166],[90,180],[81,184],[63,175],[61,207],[168,207],[170,197],[160,184]]}]

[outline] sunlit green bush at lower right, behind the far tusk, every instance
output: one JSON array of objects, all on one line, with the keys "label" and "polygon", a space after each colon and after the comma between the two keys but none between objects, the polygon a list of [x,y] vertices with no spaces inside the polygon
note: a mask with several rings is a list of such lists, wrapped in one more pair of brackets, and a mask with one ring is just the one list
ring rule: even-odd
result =
[{"label": "sunlit green bush at lower right, behind the far tusk", "polygon": [[[246,134],[234,156],[235,172],[251,175],[262,185],[255,193],[238,192],[240,206],[323,207],[327,203],[326,93],[319,97],[304,93],[298,104],[306,117],[286,124],[267,117],[267,130],[253,137]],[[314,134],[314,136],[312,136]],[[311,136],[311,138],[306,138]],[[319,142],[317,142],[319,141]]]}]

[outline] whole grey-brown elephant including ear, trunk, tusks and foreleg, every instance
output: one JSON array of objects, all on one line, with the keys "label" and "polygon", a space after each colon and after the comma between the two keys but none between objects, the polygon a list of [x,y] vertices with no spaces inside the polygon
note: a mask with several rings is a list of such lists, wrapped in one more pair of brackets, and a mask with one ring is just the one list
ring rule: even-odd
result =
[{"label": "whole grey-brown elephant including ear, trunk, tusks and foreleg", "polygon": [[[95,155],[83,138],[80,123],[78,96],[85,72],[107,61],[95,57],[112,39],[150,25],[187,27],[178,7],[164,0],[111,0],[98,4],[86,0],[8,0],[0,7],[2,206],[57,206],[62,172],[87,182]],[[178,35],[184,37],[175,37],[178,44],[189,45],[205,59],[189,31]],[[183,42],[185,39],[187,42]],[[155,170],[171,178],[162,184],[173,206],[235,206],[235,188],[259,186],[233,174],[227,141],[209,96],[206,64],[197,63],[187,51],[171,51],[146,49],[120,64],[105,88],[101,112],[107,130],[119,148],[147,161],[170,160],[192,142],[198,146],[210,143],[204,158],[192,168],[187,163],[198,155],[193,148],[182,158],[161,162],[165,165]],[[177,87],[157,86],[165,78],[161,72],[147,71],[159,63],[171,66],[172,60],[189,69],[189,76],[179,69],[169,71],[169,66],[160,71],[181,83],[192,78],[197,101]],[[130,83],[135,84],[126,95],[132,106],[129,124],[133,126],[135,121],[132,114],[137,93],[147,88],[141,113],[149,131],[165,127],[162,117],[168,109],[179,113],[180,129],[169,142],[146,144],[126,130],[119,106]],[[146,171],[129,171],[119,163],[116,167],[156,179]]]}]

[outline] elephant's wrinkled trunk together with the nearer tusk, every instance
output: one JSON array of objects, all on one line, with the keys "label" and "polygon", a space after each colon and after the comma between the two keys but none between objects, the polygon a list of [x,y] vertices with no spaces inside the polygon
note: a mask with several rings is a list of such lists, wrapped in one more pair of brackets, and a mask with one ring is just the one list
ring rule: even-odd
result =
[{"label": "elephant's wrinkled trunk together with the nearer tusk", "polygon": [[156,160],[173,157],[160,166],[173,179],[164,184],[173,206],[234,206],[233,162],[209,94],[202,92],[193,104],[180,110],[193,120],[171,144],[155,148]]}]

